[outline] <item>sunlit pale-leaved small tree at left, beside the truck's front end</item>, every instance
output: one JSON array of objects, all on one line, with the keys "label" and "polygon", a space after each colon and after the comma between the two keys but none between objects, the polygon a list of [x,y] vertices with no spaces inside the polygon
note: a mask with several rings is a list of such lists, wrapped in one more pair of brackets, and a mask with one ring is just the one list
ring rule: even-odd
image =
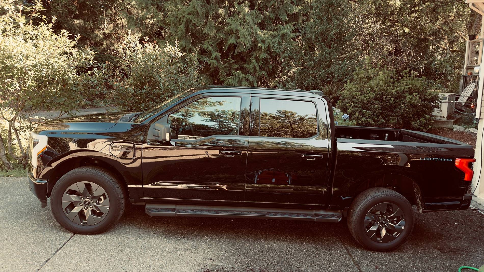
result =
[{"label": "sunlit pale-leaved small tree at left, beside the truck's front end", "polygon": [[26,110],[55,107],[63,114],[82,106],[91,91],[85,72],[94,65],[94,53],[76,46],[79,36],[71,39],[65,30],[55,34],[56,18],[47,21],[40,1],[22,6],[0,0],[0,6],[5,10],[0,14],[0,114],[8,122],[6,141],[0,135],[0,160],[12,169],[6,153],[16,164],[27,163],[21,139],[32,123]]}]

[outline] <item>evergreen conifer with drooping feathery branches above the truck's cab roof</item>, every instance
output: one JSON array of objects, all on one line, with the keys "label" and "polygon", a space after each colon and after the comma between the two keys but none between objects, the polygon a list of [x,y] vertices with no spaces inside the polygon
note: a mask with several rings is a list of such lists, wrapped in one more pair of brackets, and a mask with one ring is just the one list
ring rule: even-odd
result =
[{"label": "evergreen conifer with drooping feathery branches above the truck's cab roof", "polygon": [[170,0],[163,34],[198,51],[212,84],[271,86],[308,8],[308,0]]}]

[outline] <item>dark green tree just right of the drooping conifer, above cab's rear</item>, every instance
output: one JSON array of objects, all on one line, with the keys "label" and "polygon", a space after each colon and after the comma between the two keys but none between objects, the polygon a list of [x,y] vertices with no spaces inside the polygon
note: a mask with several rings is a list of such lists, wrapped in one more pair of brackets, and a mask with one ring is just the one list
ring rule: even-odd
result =
[{"label": "dark green tree just right of the drooping conifer, above cab's rear", "polygon": [[281,86],[314,90],[346,82],[361,59],[354,40],[359,26],[348,0],[314,0],[298,43],[287,48]]}]

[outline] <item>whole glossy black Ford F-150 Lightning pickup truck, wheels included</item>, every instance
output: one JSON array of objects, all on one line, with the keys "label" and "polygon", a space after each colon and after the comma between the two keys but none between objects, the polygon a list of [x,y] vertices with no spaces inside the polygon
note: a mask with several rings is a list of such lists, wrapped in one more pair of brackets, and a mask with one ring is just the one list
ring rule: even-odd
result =
[{"label": "whole glossy black Ford F-150 Lightning pickup truck, wheels included", "polygon": [[[136,101],[133,101],[136,103]],[[404,129],[335,126],[319,91],[205,86],[146,112],[39,125],[28,181],[76,233],[99,233],[128,203],[151,216],[339,222],[391,250],[419,212],[465,210],[472,147]]]}]

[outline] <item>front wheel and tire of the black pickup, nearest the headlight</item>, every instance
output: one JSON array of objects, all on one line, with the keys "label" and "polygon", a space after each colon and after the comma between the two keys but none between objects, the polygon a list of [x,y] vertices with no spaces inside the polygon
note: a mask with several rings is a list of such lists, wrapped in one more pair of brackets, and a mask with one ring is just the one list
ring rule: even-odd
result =
[{"label": "front wheel and tire of the black pickup, nearest the headlight", "polygon": [[57,181],[50,195],[50,207],[65,229],[96,234],[121,218],[125,199],[123,187],[113,174],[100,167],[82,166]]}]

